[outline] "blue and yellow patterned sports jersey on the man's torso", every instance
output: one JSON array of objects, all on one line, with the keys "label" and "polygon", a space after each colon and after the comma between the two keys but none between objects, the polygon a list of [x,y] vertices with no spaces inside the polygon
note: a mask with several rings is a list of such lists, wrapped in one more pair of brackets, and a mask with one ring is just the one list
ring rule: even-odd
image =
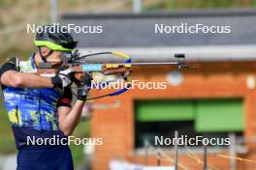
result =
[{"label": "blue and yellow patterned sports jersey on the man's torso", "polygon": [[[29,61],[19,65],[19,71],[35,69],[34,54]],[[3,65],[0,77],[5,71],[17,71],[14,60]],[[70,88],[14,88],[2,86],[5,106],[16,138],[16,147],[26,145],[27,136],[40,138],[63,136],[58,125],[57,107],[71,106]]]}]

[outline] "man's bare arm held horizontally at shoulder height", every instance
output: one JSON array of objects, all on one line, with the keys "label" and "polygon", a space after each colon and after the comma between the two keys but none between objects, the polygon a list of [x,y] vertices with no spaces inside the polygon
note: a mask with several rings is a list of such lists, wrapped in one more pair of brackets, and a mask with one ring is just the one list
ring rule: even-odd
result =
[{"label": "man's bare arm held horizontally at shoulder height", "polygon": [[33,73],[5,71],[1,76],[1,84],[11,87],[52,88],[51,79]]}]

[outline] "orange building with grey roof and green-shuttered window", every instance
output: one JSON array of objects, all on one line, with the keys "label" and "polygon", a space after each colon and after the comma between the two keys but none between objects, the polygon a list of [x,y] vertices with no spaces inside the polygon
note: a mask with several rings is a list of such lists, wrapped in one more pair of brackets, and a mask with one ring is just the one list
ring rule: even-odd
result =
[{"label": "orange building with grey roof and green-shuttered window", "polygon": [[[253,162],[234,161],[224,156],[256,159],[256,11],[189,11],[168,14],[63,14],[63,23],[101,25],[102,34],[75,34],[82,52],[119,50],[135,62],[173,60],[175,53],[186,54],[190,65],[199,69],[176,70],[170,66],[137,67],[133,79],[168,82],[164,90],[134,89],[114,98],[98,99],[119,108],[95,110],[92,137],[103,137],[96,146],[92,167],[108,169],[112,158],[136,163],[157,164],[155,155],[145,160],[144,141],[155,136],[173,137],[174,131],[189,138],[198,135],[235,138],[230,146],[209,146],[208,166],[213,169],[251,169]],[[230,26],[230,33],[155,33],[155,24]],[[170,29],[170,28],[167,28]],[[108,57],[88,59],[108,61]],[[113,60],[113,59],[112,59]],[[94,92],[94,95],[108,91]],[[234,141],[234,140],[232,140]],[[202,146],[191,151],[202,159]],[[163,147],[173,155],[173,147]],[[179,162],[188,168],[203,165],[181,151]],[[170,153],[171,152],[171,153]],[[212,154],[213,153],[213,154]],[[172,156],[174,157],[174,156]],[[163,164],[173,164],[163,161]],[[180,166],[182,166],[180,165]]]}]

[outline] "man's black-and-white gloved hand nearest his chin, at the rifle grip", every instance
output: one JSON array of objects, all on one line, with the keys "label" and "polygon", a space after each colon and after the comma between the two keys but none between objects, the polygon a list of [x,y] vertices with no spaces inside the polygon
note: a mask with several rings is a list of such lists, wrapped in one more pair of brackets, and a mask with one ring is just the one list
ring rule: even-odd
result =
[{"label": "man's black-and-white gloved hand nearest his chin, at the rifle grip", "polygon": [[73,83],[75,72],[71,69],[59,71],[58,74],[51,78],[54,87],[68,87]]}]

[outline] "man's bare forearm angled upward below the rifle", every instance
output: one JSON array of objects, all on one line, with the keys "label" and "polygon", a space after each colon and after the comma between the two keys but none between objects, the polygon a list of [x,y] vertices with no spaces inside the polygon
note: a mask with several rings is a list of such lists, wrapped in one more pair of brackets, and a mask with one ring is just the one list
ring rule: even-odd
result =
[{"label": "man's bare forearm angled upward below the rifle", "polygon": [[72,108],[67,106],[58,107],[59,128],[64,135],[70,135],[80,122],[80,115],[84,101],[77,100]]}]

